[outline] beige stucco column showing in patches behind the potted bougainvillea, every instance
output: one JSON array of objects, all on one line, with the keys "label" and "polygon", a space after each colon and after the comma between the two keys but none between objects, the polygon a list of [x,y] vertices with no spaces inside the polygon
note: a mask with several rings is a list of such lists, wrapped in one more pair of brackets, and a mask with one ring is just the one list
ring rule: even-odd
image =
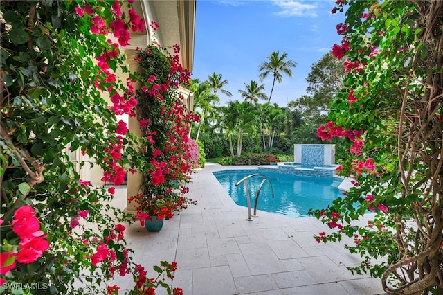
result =
[{"label": "beige stucco column showing in patches behind the potted bougainvillea", "polygon": [[[139,66],[138,63],[134,60],[134,57],[137,55],[137,51],[133,49],[125,50],[125,54],[127,56],[127,66],[129,72],[134,73],[138,71]],[[134,83],[134,89],[139,89],[140,84],[137,82]],[[138,120],[136,117],[129,117],[128,119],[128,129],[129,132],[136,136],[143,136],[143,132],[140,129],[140,125],[138,124]],[[127,175],[127,199],[131,196],[137,195],[139,193],[139,188],[143,184],[143,174],[141,172],[135,172],[132,174],[131,172]],[[127,213],[136,213],[136,204],[134,202],[130,203],[126,201],[125,212]]]}]

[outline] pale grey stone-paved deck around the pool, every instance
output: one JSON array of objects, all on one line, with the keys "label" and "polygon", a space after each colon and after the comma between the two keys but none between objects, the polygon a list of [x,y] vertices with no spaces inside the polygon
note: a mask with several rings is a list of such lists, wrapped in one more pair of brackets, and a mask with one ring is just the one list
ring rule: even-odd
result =
[{"label": "pale grey stone-paved deck around the pool", "polygon": [[[138,223],[128,226],[125,238],[135,251],[134,261],[150,277],[159,261],[176,261],[172,287],[182,288],[185,295],[384,293],[379,279],[352,275],[346,269],[360,260],[343,248],[344,242],[318,244],[312,238],[331,231],[315,218],[258,211],[259,217],[246,220],[247,208],[233,202],[212,172],[251,168],[257,166],[208,163],[197,169],[188,194],[197,206],[165,220],[156,233]],[[122,207],[125,202],[126,189],[118,188],[114,203]],[[121,287],[120,294],[134,285],[128,278],[116,278],[115,283]],[[166,292],[158,289],[156,294]]]}]

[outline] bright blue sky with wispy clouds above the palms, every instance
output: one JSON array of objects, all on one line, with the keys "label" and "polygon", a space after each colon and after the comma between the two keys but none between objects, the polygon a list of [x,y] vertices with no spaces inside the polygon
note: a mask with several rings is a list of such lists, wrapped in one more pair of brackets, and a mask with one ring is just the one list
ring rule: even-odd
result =
[{"label": "bright blue sky with wispy clouds above the palms", "polygon": [[[220,105],[228,100],[242,101],[238,90],[245,89],[245,82],[258,82],[260,63],[273,51],[287,52],[297,66],[291,78],[284,75],[282,83],[276,82],[271,98],[271,103],[286,107],[287,102],[306,94],[311,65],[341,41],[335,27],[343,22],[344,14],[331,14],[334,3],[197,0],[192,78],[202,81],[213,72],[221,73],[233,96],[220,94]],[[259,83],[269,96],[272,75]]]}]

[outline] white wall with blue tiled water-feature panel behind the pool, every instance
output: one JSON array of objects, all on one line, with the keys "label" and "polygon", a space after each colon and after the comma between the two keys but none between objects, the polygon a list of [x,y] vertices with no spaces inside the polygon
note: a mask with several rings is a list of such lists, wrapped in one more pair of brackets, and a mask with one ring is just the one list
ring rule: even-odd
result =
[{"label": "white wall with blue tiled water-feature panel behind the pool", "polygon": [[302,166],[323,166],[335,164],[335,145],[295,144],[293,159]]}]

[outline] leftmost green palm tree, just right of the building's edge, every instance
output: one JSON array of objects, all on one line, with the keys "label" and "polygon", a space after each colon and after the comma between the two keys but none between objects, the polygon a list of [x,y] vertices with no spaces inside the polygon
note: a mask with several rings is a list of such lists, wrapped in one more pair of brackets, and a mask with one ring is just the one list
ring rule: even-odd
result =
[{"label": "leftmost green palm tree, just right of the building's edge", "polygon": [[213,105],[219,103],[220,99],[215,94],[210,93],[211,85],[208,81],[191,85],[192,92],[194,93],[194,111],[197,112],[197,109],[201,110],[199,129],[197,129],[197,136],[195,137],[195,140],[198,141],[201,125],[204,123],[205,117],[215,116]]}]

